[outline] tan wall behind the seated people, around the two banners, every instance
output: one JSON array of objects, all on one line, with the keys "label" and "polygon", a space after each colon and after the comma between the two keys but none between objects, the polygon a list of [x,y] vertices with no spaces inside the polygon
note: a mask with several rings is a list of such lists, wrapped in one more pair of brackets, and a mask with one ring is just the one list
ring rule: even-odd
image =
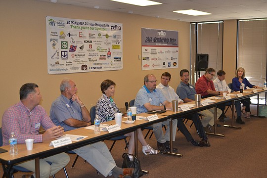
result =
[{"label": "tan wall behind the seated people, around the two banners", "polygon": [[[123,24],[123,70],[48,75],[46,55],[45,16]],[[59,83],[63,78],[73,79],[87,108],[95,105],[101,96],[100,83],[111,79],[116,84],[115,102],[119,108],[135,97],[148,73],[157,79],[163,72],[172,74],[171,86],[180,81],[178,72],[189,69],[190,24],[187,22],[111,12],[100,9],[75,7],[37,0],[0,1],[0,118],[5,109],[19,101],[19,88],[28,82],[37,83],[43,95],[42,106],[49,113],[52,101],[59,96]],[[178,68],[168,70],[141,70],[141,27],[176,30],[179,32]]]}]

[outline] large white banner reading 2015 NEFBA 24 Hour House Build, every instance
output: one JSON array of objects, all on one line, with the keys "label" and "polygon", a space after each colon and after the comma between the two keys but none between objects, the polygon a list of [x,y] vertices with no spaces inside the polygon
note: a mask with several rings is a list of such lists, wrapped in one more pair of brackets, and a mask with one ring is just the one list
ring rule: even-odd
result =
[{"label": "large white banner reading 2015 NEFBA 24 Hour House Build", "polygon": [[123,69],[120,23],[46,16],[47,72]]}]

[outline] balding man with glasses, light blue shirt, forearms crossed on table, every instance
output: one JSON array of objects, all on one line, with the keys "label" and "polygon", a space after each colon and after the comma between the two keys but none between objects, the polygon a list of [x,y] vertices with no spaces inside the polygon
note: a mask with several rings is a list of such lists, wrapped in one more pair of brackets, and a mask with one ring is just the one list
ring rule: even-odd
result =
[{"label": "balding man with glasses, light blue shirt, forearms crossed on table", "polygon": [[[172,103],[166,100],[165,96],[157,87],[157,80],[153,74],[144,77],[144,86],[139,89],[135,97],[134,106],[137,107],[136,113],[144,113],[150,110],[172,109]],[[162,104],[160,106],[160,104]],[[168,127],[166,133],[162,131],[162,125]],[[170,122],[164,121],[152,125],[153,132],[157,139],[157,146],[161,151],[170,151]],[[173,121],[173,141],[175,141],[177,120]],[[177,150],[177,148],[173,148]]]}]

